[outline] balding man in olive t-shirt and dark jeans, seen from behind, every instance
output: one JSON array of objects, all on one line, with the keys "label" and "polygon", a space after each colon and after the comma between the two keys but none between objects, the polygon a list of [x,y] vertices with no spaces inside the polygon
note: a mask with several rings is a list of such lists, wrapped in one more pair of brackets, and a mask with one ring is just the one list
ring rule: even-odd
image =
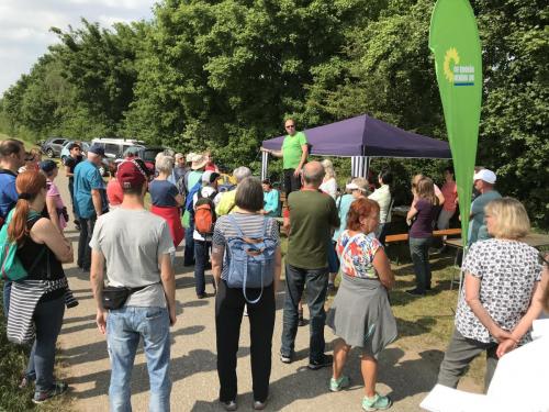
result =
[{"label": "balding man in olive t-shirt and dark jeans, seen from behind", "polygon": [[[324,354],[324,322],[326,288],[328,285],[328,242],[330,230],[339,226],[334,199],[318,191],[324,168],[311,162],[303,168],[303,189],[288,198],[290,234],[285,257],[285,302],[280,360],[293,360],[298,332],[298,304],[306,286],[306,300],[311,314],[309,368],[316,370],[332,365]],[[288,218],[284,218],[287,220]],[[284,222],[287,224],[287,222]]]}]

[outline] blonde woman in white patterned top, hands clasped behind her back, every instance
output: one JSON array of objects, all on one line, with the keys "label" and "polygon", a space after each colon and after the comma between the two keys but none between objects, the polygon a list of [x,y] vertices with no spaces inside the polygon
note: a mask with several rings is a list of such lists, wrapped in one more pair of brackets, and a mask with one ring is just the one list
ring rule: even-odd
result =
[{"label": "blonde woman in white patterned top, hands clasped behind her back", "polygon": [[486,352],[484,383],[489,387],[498,357],[530,341],[529,329],[541,312],[549,280],[547,275],[541,277],[538,252],[520,242],[530,229],[523,204],[512,198],[496,199],[484,211],[494,238],[474,243],[463,261],[456,327],[438,374],[438,383],[450,388],[458,386],[467,366],[482,352]]}]

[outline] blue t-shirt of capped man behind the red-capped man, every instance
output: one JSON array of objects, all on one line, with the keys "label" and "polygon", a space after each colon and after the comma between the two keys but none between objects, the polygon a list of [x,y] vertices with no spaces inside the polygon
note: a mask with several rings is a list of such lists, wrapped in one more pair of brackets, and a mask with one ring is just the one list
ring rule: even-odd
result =
[{"label": "blue t-shirt of capped man behind the red-capped man", "polygon": [[101,190],[102,210],[108,209],[105,183],[99,169],[89,160],[80,162],[75,167],[75,210],[76,214],[83,219],[90,219],[96,214],[91,190]]}]

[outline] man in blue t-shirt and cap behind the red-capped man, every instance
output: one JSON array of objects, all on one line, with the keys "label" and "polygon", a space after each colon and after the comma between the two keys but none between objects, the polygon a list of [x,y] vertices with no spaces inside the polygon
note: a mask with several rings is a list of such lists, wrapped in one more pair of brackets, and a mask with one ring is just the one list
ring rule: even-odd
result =
[{"label": "man in blue t-shirt and cap behind the red-capped man", "polygon": [[75,167],[75,210],[80,220],[78,240],[78,267],[90,270],[91,249],[89,243],[97,219],[109,210],[105,183],[99,171],[104,149],[92,144],[88,149],[88,159]]}]

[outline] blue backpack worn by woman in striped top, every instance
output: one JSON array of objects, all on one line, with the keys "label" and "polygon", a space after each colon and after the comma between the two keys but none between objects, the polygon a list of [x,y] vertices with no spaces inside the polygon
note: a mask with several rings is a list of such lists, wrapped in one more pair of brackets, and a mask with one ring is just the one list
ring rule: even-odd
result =
[{"label": "blue backpack worn by woman in striped top", "polygon": [[[248,303],[257,303],[264,294],[264,287],[272,283],[274,277],[274,254],[277,241],[267,236],[267,225],[271,219],[265,219],[261,232],[255,237],[244,236],[236,219],[227,215],[238,235],[227,238],[226,264],[228,266],[227,286],[242,288]],[[246,289],[261,289],[259,297],[249,300]]]}]

